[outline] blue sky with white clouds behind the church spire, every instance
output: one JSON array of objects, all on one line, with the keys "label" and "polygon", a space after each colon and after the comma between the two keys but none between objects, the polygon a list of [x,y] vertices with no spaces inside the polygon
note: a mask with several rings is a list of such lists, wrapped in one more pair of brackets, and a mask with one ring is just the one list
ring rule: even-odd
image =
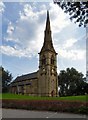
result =
[{"label": "blue sky with white clouds behind the church spire", "polygon": [[68,67],[86,74],[86,28],[70,21],[53,2],[0,2],[0,65],[13,79],[38,70],[47,10],[58,74]]}]

